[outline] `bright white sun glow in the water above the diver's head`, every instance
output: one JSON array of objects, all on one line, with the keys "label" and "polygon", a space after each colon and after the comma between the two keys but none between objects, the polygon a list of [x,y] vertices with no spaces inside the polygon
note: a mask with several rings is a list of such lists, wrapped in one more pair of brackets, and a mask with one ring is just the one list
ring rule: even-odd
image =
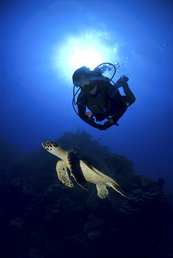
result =
[{"label": "bright white sun glow in the water above the diver's head", "polygon": [[94,69],[99,63],[116,55],[115,47],[99,39],[92,39],[89,35],[87,38],[69,38],[66,44],[56,46],[56,49],[54,54],[57,56],[57,65],[59,63],[73,71],[83,65]]}]

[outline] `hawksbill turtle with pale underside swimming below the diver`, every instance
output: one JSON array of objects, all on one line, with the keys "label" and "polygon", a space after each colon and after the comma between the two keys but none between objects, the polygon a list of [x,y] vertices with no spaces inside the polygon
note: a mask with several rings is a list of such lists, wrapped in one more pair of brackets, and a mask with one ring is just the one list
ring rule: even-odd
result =
[{"label": "hawksbill turtle with pale underside swimming below the diver", "polygon": [[113,174],[106,165],[89,152],[77,147],[66,149],[61,144],[53,141],[44,141],[42,146],[51,154],[60,158],[56,165],[56,171],[59,180],[66,186],[73,187],[73,182],[69,179],[67,173],[67,168],[69,168],[71,175],[84,189],[89,189],[88,182],[96,184],[100,198],[104,199],[108,195],[107,186],[129,198],[119,188],[119,184],[115,181]]}]

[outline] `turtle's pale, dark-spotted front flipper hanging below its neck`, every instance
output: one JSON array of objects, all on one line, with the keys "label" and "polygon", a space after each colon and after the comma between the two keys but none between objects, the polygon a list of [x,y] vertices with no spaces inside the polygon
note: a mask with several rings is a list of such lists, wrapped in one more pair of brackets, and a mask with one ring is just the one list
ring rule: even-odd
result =
[{"label": "turtle's pale, dark-spotted front flipper hanging below its neck", "polygon": [[65,184],[66,186],[69,186],[69,187],[73,187],[73,183],[69,179],[69,176],[67,173],[67,167],[63,160],[61,160],[61,159],[58,160],[57,166],[56,166],[56,171],[57,171],[59,180],[61,180],[61,182],[63,184]]}]

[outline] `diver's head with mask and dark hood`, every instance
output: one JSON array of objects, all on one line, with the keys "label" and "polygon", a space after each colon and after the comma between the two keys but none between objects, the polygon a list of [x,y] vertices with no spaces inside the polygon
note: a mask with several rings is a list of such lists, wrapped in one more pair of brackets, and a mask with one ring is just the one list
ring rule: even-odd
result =
[{"label": "diver's head with mask and dark hood", "polygon": [[91,81],[90,71],[90,68],[87,68],[86,66],[78,68],[72,76],[73,85],[82,88],[84,85],[89,85]]}]

